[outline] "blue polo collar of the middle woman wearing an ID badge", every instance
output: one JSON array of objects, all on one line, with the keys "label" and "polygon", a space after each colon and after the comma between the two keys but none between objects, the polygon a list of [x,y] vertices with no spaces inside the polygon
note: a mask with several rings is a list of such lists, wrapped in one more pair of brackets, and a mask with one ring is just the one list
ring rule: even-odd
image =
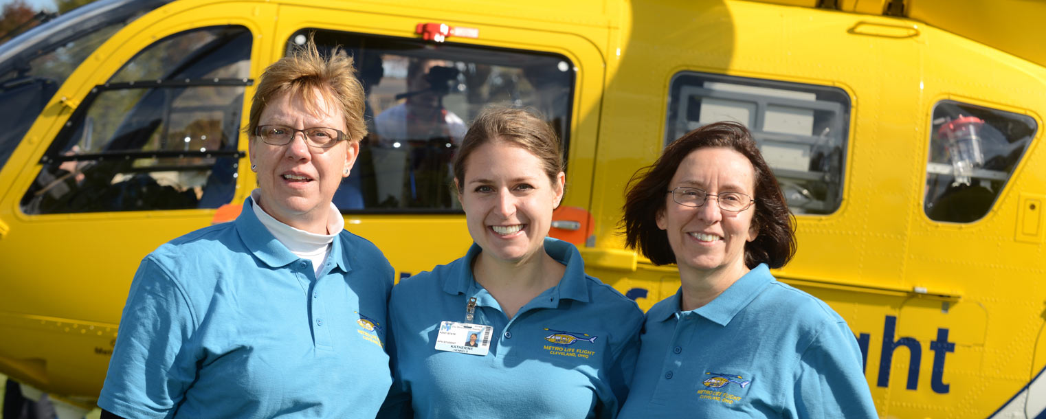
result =
[{"label": "blue polo collar of the middle woman wearing an ID badge", "polygon": [[[560,279],[560,283],[542,294],[542,296],[548,296],[551,299],[540,298],[540,296],[536,299],[538,306],[555,307],[559,305],[561,299],[589,302],[590,296],[586,284],[585,262],[582,260],[582,255],[577,252],[577,248],[574,248],[569,242],[551,237],[545,237],[544,246],[545,253],[551,256],[552,259],[565,264],[567,269],[563,274],[563,278]],[[464,258],[460,259],[461,263],[454,263],[449,279],[444,282],[444,292],[450,295],[464,294],[474,296],[479,305],[494,306],[497,304],[494,298],[476,282],[476,279],[472,275],[472,260],[482,251],[483,249],[479,245],[472,243],[472,247],[469,248],[469,253],[465,254]]]}]

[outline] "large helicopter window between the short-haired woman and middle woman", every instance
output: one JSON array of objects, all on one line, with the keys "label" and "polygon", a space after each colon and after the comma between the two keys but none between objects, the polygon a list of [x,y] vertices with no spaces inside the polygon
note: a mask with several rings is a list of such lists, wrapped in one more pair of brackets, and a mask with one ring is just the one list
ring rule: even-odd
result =
[{"label": "large helicopter window between the short-haired woman and middle woman", "polygon": [[574,70],[565,56],[322,29],[298,31],[288,48],[309,33],[321,50],[353,55],[367,94],[369,134],[334,196],[343,212],[459,212],[451,164],[491,103],[541,112],[569,149]]}]

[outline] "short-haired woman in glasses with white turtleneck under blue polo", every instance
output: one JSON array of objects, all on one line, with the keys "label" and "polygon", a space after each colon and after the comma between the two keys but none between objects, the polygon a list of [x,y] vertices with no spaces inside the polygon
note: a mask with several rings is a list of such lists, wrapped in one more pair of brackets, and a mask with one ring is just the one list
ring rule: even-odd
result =
[{"label": "short-haired woman in glasses with white turtleneck under blue polo", "polygon": [[367,132],[363,101],[353,60],[312,40],[265,70],[245,130],[258,188],[234,222],[141,261],[104,418],[374,417],[393,271],[331,202]]}]

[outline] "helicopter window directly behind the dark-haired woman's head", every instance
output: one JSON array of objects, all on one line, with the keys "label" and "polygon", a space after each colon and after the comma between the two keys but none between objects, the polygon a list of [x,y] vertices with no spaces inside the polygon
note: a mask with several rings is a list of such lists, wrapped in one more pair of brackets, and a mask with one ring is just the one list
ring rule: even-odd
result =
[{"label": "helicopter window directly behind the dark-haired woman's head", "polygon": [[842,203],[849,96],[815,85],[682,72],[669,86],[665,145],[718,121],[751,132],[796,214],[831,214]]}]

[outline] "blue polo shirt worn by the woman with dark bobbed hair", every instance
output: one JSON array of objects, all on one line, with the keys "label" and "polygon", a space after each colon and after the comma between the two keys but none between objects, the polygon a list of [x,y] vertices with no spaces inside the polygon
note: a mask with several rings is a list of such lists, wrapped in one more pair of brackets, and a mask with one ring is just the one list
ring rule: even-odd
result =
[{"label": "blue polo shirt worn by the woman with dark bobbed hair", "polygon": [[760,264],[710,303],[646,312],[621,418],[878,418],[846,322]]}]

